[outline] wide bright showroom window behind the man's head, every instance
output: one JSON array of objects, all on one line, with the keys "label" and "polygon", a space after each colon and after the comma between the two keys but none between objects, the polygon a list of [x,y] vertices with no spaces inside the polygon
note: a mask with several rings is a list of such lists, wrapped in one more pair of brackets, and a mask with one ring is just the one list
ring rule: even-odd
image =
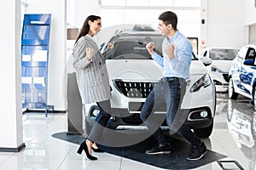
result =
[{"label": "wide bright showroom window behind the man's head", "polygon": [[158,16],[172,10],[177,28],[187,37],[201,37],[201,0],[99,0],[102,27],[149,24],[157,29]]}]

